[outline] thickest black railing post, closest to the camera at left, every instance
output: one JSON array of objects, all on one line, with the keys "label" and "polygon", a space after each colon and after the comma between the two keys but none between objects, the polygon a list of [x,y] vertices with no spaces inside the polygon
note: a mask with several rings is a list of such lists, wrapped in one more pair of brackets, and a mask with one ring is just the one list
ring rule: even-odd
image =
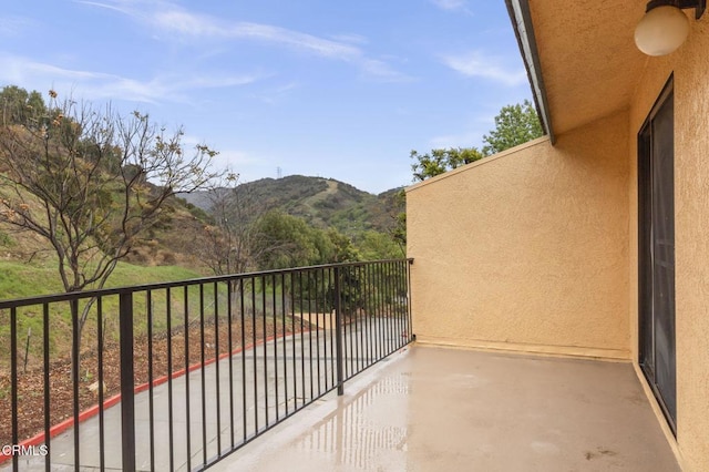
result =
[{"label": "thickest black railing post, closest to the camera at left", "polygon": [[133,293],[120,295],[121,431],[124,471],[135,471],[135,398],[133,372]]}]

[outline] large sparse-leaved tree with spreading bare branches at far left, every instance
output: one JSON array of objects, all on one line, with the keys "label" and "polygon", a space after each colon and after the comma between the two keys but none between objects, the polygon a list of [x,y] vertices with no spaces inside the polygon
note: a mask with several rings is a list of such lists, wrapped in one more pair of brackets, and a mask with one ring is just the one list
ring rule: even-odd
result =
[{"label": "large sparse-leaved tree with spreading bare branches at far left", "polygon": [[0,125],[0,220],[51,244],[64,290],[101,288],[172,195],[215,177],[217,153],[187,153],[182,130],[167,133],[146,114],[50,96],[44,116]]}]

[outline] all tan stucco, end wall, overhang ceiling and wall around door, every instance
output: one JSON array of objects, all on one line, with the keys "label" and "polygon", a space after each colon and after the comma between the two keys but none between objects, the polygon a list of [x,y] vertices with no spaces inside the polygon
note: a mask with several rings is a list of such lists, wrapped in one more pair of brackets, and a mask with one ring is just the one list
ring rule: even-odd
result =
[{"label": "all tan stucco, end wall, overhang ceiling and wall around door", "polygon": [[428,342],[631,358],[639,372],[637,132],[674,73],[677,439],[665,432],[682,469],[703,472],[709,12],[675,53],[647,58],[633,45],[645,4],[530,0],[557,144],[408,189],[414,329]]}]

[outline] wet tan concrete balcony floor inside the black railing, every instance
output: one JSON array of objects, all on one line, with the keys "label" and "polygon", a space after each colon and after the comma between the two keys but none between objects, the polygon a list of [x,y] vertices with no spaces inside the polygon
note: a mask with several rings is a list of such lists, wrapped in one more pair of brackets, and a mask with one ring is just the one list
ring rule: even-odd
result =
[{"label": "wet tan concrete balcony floor inside the black railing", "polygon": [[629,363],[414,346],[210,470],[678,471]]}]

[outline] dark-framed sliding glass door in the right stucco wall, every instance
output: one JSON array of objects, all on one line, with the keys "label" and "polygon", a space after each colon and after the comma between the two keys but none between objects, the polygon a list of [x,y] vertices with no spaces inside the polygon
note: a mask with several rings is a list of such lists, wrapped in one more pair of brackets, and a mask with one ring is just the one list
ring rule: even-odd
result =
[{"label": "dark-framed sliding glass door in the right stucco wall", "polygon": [[639,360],[676,429],[672,80],[638,134]]}]

